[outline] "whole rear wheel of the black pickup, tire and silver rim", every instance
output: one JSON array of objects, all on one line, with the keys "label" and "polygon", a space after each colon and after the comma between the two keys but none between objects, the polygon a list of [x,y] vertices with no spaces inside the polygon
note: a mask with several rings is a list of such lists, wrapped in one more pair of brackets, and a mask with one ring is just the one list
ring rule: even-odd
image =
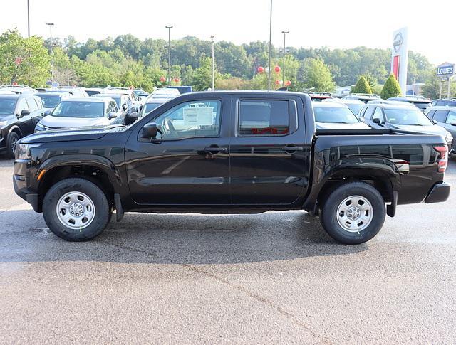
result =
[{"label": "whole rear wheel of the black pickup, tire and silver rim", "polygon": [[343,184],[326,199],[320,221],[328,235],[338,242],[364,243],[382,228],[385,202],[378,190],[369,184]]}]

